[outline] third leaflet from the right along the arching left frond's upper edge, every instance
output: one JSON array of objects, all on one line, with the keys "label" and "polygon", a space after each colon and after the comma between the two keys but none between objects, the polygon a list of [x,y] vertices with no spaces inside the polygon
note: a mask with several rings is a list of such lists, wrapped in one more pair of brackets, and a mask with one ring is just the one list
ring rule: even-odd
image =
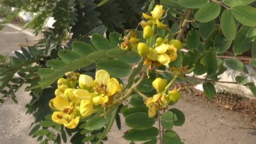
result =
[{"label": "third leaflet from the right along the arching left frond's upper edge", "polygon": [[96,51],[95,48],[93,48],[93,46],[81,41],[73,41],[72,49],[82,57],[87,56],[89,53],[92,53],[93,51]]}]

